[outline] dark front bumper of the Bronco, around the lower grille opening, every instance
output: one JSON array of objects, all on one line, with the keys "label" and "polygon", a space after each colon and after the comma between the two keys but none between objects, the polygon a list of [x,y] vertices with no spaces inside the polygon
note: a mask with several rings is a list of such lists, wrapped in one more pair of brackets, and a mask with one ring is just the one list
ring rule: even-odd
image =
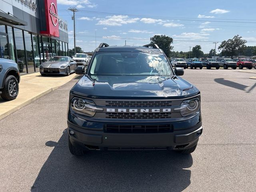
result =
[{"label": "dark front bumper of the Bronco, around the lower grille opening", "polygon": [[[92,122],[68,114],[68,134],[72,145],[94,150],[183,150],[191,148],[202,134],[201,115],[172,124],[170,132],[112,133],[106,132],[106,124],[130,125],[129,123]],[[132,123],[134,124],[134,123]],[[149,123],[144,123],[146,125]],[[154,124],[166,124],[157,122]],[[142,125],[137,123],[136,125]],[[74,134],[70,134],[74,131]]]}]

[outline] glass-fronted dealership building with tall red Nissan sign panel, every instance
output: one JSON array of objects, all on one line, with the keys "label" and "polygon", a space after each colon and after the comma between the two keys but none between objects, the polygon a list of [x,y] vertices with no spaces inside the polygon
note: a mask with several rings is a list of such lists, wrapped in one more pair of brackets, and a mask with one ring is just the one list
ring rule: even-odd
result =
[{"label": "glass-fronted dealership building with tall red Nissan sign panel", "polygon": [[68,56],[68,25],[56,0],[0,0],[0,58],[18,63],[20,74],[39,71],[51,56]]}]

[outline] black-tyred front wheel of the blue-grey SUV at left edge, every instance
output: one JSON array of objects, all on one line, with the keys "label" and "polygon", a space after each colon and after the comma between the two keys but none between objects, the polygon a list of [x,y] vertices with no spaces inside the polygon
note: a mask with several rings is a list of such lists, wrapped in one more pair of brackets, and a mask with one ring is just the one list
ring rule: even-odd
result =
[{"label": "black-tyred front wheel of the blue-grey SUV at left edge", "polygon": [[4,88],[2,89],[1,97],[4,100],[14,100],[17,98],[19,93],[19,84],[16,77],[13,75],[7,76],[4,80]]}]

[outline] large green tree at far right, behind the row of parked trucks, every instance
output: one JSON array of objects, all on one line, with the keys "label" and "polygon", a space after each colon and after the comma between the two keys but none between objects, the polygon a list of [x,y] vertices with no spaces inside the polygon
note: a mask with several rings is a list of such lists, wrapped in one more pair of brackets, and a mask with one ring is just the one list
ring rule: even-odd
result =
[{"label": "large green tree at far right, behind the row of parked trucks", "polygon": [[246,40],[242,40],[242,36],[236,35],[232,39],[222,41],[218,50],[222,50],[222,54],[226,56],[238,56],[246,48]]}]

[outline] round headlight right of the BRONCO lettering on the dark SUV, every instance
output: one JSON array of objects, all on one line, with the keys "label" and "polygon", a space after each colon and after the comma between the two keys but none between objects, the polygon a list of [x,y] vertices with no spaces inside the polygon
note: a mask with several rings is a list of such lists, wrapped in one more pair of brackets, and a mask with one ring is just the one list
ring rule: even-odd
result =
[{"label": "round headlight right of the BRONCO lettering on the dark SUV", "polygon": [[180,104],[180,108],[174,109],[174,111],[180,111],[183,117],[196,115],[199,113],[200,100],[198,98],[193,98],[190,100],[185,100]]}]

